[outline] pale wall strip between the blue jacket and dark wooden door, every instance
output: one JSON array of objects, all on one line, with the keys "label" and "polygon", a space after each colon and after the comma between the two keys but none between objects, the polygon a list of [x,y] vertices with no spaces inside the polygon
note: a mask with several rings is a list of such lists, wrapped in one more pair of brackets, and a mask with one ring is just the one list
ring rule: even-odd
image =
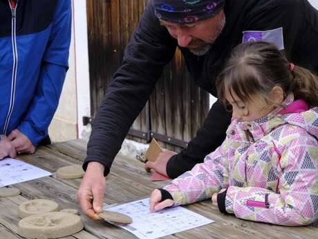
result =
[{"label": "pale wall strip between the blue jacket and dark wooden door", "polygon": [[72,0],[72,9],[69,69],[59,106],[48,128],[53,142],[88,139],[91,133],[91,125],[82,123],[83,116],[91,116],[86,0]]}]

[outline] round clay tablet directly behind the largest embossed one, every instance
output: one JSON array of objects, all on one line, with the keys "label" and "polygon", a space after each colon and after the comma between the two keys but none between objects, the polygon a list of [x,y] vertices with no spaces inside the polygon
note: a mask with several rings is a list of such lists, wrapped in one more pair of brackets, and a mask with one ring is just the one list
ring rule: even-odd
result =
[{"label": "round clay tablet directly behind the largest embossed one", "polygon": [[29,215],[59,211],[59,204],[51,200],[30,200],[19,205],[19,217],[26,218]]}]

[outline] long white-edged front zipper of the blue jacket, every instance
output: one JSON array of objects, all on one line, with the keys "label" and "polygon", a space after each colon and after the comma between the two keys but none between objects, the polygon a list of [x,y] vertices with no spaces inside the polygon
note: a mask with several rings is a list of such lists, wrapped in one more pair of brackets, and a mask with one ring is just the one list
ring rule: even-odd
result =
[{"label": "long white-edged front zipper of the blue jacket", "polygon": [[3,127],[3,134],[6,135],[8,130],[8,125],[10,121],[10,117],[13,111],[13,107],[15,105],[15,87],[17,81],[17,62],[18,62],[18,54],[17,54],[17,29],[16,29],[16,10],[17,10],[17,3],[13,0],[8,0],[9,6],[11,9],[11,40],[12,40],[12,53],[13,53],[13,67],[12,67],[12,83],[11,83],[11,95],[10,95],[10,107],[8,110],[8,114],[6,117],[6,122],[4,123]]}]

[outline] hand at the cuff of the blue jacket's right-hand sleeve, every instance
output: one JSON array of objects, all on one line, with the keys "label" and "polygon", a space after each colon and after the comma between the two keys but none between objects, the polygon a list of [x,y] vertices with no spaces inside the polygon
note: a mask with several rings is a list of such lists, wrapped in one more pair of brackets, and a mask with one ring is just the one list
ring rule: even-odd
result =
[{"label": "hand at the cuff of the blue jacket's right-hand sleeve", "polygon": [[30,139],[19,130],[13,130],[9,134],[8,140],[12,143],[13,147],[15,147],[18,154],[21,152],[26,152],[27,154],[35,153],[35,146],[32,145]]}]

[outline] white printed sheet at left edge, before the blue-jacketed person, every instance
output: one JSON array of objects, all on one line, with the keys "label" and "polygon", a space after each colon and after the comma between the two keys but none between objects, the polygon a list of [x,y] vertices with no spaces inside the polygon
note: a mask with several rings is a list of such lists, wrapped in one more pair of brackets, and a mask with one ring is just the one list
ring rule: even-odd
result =
[{"label": "white printed sheet at left edge, before the blue-jacketed person", "polygon": [[17,159],[0,160],[0,188],[50,175],[52,173]]}]

